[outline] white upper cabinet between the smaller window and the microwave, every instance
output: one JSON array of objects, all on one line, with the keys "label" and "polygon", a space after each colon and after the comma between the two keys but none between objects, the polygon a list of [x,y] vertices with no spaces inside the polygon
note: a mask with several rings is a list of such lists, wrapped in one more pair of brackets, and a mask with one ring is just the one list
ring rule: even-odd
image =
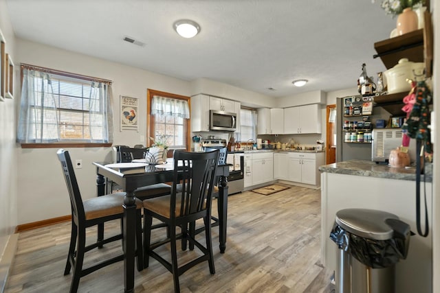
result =
[{"label": "white upper cabinet between the smaller window and the microwave", "polygon": [[209,107],[208,95],[195,95],[191,97],[191,131],[209,131]]}]

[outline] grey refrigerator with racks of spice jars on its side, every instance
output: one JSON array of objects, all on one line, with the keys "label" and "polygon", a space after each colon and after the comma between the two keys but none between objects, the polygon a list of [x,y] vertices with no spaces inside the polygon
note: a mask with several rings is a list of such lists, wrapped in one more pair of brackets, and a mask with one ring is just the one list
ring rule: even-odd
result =
[{"label": "grey refrigerator with racks of spice jars on its side", "polygon": [[[362,95],[351,95],[338,97],[336,99],[336,162],[349,161],[353,159],[371,161],[371,142],[368,139],[378,120],[384,120],[385,125],[391,116],[380,106],[374,106],[373,95],[363,97]],[[351,123],[347,129],[346,121]],[[356,127],[365,122],[368,127]],[[347,133],[350,139],[347,141]],[[354,141],[352,135],[355,134]],[[358,139],[358,134],[364,134],[365,139]],[[365,135],[366,134],[366,135]]]}]

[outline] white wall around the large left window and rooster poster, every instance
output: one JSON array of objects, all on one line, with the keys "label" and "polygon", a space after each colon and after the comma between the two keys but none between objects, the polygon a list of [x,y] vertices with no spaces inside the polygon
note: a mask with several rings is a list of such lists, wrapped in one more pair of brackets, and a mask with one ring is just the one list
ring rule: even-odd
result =
[{"label": "white wall around the large left window and rooster poster", "polygon": [[[146,144],[146,141],[140,140],[140,135],[146,135],[146,115],[142,115],[146,113],[146,89],[190,95],[190,83],[184,80],[32,43],[28,40],[17,39],[17,58],[15,59],[17,65],[24,62],[113,80],[115,145]],[[135,130],[120,132],[120,119],[117,114],[120,95],[139,98],[139,132]],[[17,97],[14,101],[18,108],[19,98]],[[142,109],[145,110],[142,111]],[[67,150],[71,152],[73,160],[83,160],[83,169],[76,169],[83,198],[96,196],[96,170],[91,163],[111,160],[111,148],[67,148]],[[17,152],[18,160],[15,160],[14,165],[17,165],[19,169],[18,224],[69,215],[70,204],[60,163],[56,157],[56,148],[22,149],[20,145],[17,145]],[[1,177],[0,180],[3,180],[3,176]]]}]

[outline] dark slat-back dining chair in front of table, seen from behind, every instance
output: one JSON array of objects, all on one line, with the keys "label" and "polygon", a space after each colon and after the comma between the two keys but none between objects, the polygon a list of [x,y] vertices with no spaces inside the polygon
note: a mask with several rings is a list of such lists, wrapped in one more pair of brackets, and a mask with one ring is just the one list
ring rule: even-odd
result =
[{"label": "dark slat-back dining chair in front of table, seen from behind", "polygon": [[[214,186],[215,172],[219,151],[213,152],[174,152],[173,189],[169,196],[161,196],[144,200],[144,266],[148,267],[149,257],[157,259],[173,274],[175,292],[180,292],[179,276],[192,266],[202,261],[208,261],[210,273],[214,274],[214,257],[212,255],[211,239],[211,208],[212,187]],[[177,184],[181,184],[181,192],[177,192]],[[167,225],[166,239],[151,244],[151,226],[153,218]],[[203,219],[206,233],[206,246],[197,242],[194,235],[190,235],[188,224]],[[176,234],[176,228],[181,233]],[[183,266],[177,263],[177,239],[188,241],[195,245],[203,255],[192,259]],[[171,261],[156,253],[155,249],[170,242]]]}]

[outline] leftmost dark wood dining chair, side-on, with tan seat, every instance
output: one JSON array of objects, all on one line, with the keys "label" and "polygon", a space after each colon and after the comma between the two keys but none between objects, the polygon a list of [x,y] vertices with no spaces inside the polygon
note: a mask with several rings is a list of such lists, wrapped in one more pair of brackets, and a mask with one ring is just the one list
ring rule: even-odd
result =
[{"label": "leftmost dark wood dining chair, side-on, with tan seat", "polygon": [[[89,250],[102,247],[104,244],[122,239],[122,219],[124,215],[122,204],[124,204],[125,193],[120,192],[118,194],[109,194],[106,196],[98,196],[88,200],[83,200],[81,198],[78,182],[76,181],[74,167],[72,165],[69,152],[60,149],[58,152],[56,152],[56,154],[61,162],[65,183],[67,185],[67,190],[69,191],[70,206],[72,208],[72,233],[70,235],[69,253],[67,255],[67,263],[64,274],[67,275],[70,273],[71,269],[73,270],[74,275],[70,285],[70,292],[75,293],[78,290],[81,277],[99,270],[104,266],[108,266],[111,263],[122,261],[124,259],[124,253],[122,253],[121,255],[112,257],[111,259],[100,261],[93,266],[89,266],[88,268],[83,268],[85,253],[87,253]],[[135,246],[137,255],[137,270],[140,271],[143,269],[141,200],[136,200],[136,208],[137,220],[135,227]],[[116,219],[121,220],[120,234],[108,237],[106,239],[100,239],[97,242],[86,246],[86,228]]]}]

